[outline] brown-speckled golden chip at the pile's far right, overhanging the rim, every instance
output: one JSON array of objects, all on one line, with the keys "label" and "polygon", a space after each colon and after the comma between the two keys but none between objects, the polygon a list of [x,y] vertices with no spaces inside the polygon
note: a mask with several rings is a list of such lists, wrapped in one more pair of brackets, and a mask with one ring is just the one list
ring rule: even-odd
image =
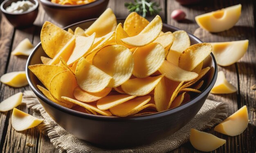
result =
[{"label": "brown-speckled golden chip at the pile's far right, overhanging the rim", "polygon": [[184,50],[180,55],[179,66],[180,68],[191,71],[198,66],[204,59],[210,55],[212,50],[211,44],[201,43],[194,44]]}]

